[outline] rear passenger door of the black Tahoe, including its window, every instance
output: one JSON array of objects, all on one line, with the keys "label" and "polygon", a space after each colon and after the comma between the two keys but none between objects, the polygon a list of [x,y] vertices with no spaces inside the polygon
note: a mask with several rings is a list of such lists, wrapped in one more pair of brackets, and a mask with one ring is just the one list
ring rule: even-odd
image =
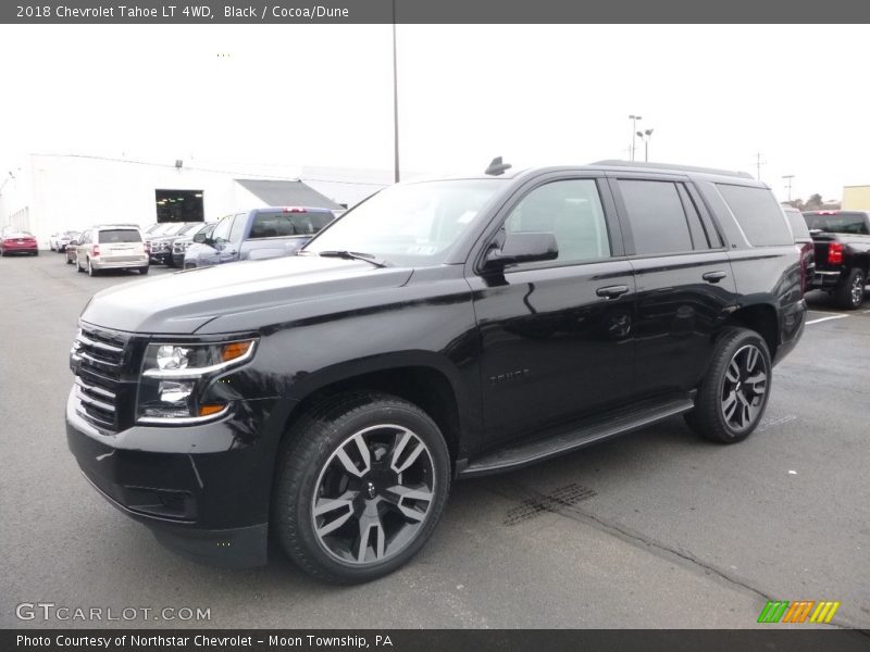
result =
[{"label": "rear passenger door of the black Tahoe, including its window", "polygon": [[638,398],[697,386],[734,305],[723,241],[685,178],[610,179],[636,283]]}]

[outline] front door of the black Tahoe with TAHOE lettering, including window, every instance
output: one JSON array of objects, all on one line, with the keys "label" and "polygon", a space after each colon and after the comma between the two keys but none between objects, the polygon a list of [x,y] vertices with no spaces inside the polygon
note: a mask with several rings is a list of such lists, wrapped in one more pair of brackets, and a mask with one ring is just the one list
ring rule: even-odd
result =
[{"label": "front door of the black Tahoe with TAHOE lettering, including window", "polygon": [[510,439],[624,402],[634,373],[634,280],[604,176],[545,177],[498,220],[494,241],[552,233],[559,256],[469,278],[487,438]]}]

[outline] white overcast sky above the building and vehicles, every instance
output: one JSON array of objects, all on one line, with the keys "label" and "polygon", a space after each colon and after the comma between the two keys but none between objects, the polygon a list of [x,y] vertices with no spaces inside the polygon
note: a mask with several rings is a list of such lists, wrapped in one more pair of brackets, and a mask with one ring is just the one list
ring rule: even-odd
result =
[{"label": "white overcast sky above the building and vehicles", "polygon": [[[870,26],[399,25],[405,171],[627,156],[870,184]],[[221,55],[219,55],[221,54]],[[391,170],[389,25],[0,26],[0,171],[27,152]],[[637,143],[643,160],[643,143]]]}]

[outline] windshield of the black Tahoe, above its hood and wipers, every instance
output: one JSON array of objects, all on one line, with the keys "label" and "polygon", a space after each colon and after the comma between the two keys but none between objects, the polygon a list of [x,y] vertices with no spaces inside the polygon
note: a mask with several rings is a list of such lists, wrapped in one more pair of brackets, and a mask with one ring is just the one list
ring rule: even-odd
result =
[{"label": "windshield of the black Tahoe, above its hood and wipers", "polygon": [[390,186],[345,213],[303,252],[352,251],[395,264],[437,265],[501,179]]}]

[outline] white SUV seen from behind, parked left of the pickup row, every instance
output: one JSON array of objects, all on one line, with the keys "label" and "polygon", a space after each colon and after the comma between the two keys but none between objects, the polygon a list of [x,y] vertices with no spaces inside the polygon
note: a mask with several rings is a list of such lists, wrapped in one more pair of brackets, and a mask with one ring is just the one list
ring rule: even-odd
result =
[{"label": "white SUV seen from behind, parked left of the pickup row", "polygon": [[90,276],[102,269],[138,269],[148,274],[148,250],[137,226],[103,225],[82,234],[76,247],[76,269]]}]

